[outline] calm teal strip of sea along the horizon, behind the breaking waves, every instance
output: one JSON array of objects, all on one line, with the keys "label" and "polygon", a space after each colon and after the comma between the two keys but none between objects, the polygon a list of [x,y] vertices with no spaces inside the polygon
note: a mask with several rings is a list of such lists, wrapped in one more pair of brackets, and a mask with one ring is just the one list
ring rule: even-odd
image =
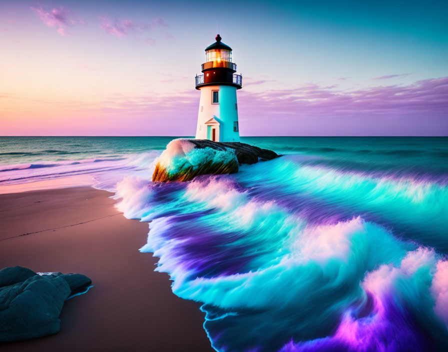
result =
[{"label": "calm teal strip of sea along the horizon, behind the breaking waves", "polygon": [[[175,137],[0,137],[0,165],[118,157],[162,150]],[[176,137],[177,138],[177,137]],[[322,164],[359,170],[442,174],[446,137],[241,137],[241,142],[321,158]]]}]

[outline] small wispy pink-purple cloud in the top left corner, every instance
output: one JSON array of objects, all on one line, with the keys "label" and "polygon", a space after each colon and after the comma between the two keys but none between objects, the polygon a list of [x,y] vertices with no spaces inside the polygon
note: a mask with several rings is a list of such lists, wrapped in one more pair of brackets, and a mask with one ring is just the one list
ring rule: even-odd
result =
[{"label": "small wispy pink-purple cloud in the top left corner", "polygon": [[67,27],[84,23],[80,19],[73,18],[73,11],[63,6],[48,10],[42,7],[42,5],[37,4],[36,7],[31,6],[31,9],[37,13],[42,22],[48,27],[57,27],[56,31],[63,36],[72,35],[67,30]]}]

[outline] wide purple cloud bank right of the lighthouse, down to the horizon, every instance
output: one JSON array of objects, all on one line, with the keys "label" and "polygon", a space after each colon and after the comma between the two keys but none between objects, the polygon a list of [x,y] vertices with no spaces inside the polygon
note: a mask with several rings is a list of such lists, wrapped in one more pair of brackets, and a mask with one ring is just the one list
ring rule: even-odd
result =
[{"label": "wide purple cloud bank right of the lighthouse, down to the horizon", "polygon": [[310,83],[238,94],[239,113],[250,125],[246,132],[241,122],[241,131],[251,135],[448,134],[448,77],[353,91]]}]

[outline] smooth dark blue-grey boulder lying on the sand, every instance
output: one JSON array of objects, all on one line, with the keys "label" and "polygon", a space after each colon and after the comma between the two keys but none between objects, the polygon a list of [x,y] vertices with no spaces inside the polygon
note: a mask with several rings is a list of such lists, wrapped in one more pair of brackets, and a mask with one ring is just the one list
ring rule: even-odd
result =
[{"label": "smooth dark blue-grey boulder lying on the sand", "polygon": [[59,331],[65,299],[91,280],[81,274],[37,274],[21,267],[0,270],[0,341],[16,341]]}]

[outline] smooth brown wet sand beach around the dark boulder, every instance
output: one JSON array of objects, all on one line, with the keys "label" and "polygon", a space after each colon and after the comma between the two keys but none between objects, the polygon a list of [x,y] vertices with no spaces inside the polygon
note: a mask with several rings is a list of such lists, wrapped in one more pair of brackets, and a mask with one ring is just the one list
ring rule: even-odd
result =
[{"label": "smooth brown wet sand beach around the dark boulder", "polygon": [[90,187],[0,195],[0,268],[78,272],[94,285],[65,302],[57,334],[1,351],[213,350],[199,304],[175,296],[169,276],[153,271],[157,259],[138,251],[148,224],[126,219],[110,195]]}]

